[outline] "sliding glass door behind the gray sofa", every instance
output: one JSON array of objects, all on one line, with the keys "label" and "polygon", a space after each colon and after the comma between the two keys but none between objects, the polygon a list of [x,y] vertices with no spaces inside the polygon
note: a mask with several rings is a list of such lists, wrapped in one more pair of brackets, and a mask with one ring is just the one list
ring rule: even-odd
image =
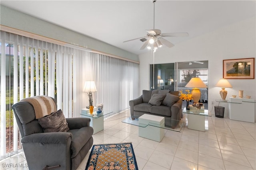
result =
[{"label": "sliding glass door behind the gray sofa", "polygon": [[[150,64],[150,89],[184,91],[192,77],[208,86],[208,61]],[[200,89],[200,102],[208,101],[208,88]]]}]

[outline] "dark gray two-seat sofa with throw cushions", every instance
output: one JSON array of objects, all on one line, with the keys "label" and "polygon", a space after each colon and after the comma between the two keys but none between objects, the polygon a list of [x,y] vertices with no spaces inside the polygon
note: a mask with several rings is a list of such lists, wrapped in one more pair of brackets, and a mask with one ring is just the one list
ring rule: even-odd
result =
[{"label": "dark gray two-seat sofa with throw cushions", "polygon": [[132,120],[143,114],[163,116],[168,118],[165,125],[174,128],[176,120],[182,118],[182,100],[178,94],[178,91],[170,90],[143,90],[140,97],[129,102]]}]

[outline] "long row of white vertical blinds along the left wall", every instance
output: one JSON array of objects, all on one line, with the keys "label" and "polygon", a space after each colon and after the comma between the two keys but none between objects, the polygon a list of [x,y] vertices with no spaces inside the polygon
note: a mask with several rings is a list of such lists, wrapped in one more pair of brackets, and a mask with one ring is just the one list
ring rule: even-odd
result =
[{"label": "long row of white vertical blinds along the left wall", "polygon": [[106,110],[125,110],[138,96],[139,64],[81,48],[1,31],[0,63],[1,160],[22,148],[12,105],[23,98],[51,96],[66,118],[80,117],[82,80],[89,74],[82,72],[85,67],[96,82],[96,103],[104,103]]}]

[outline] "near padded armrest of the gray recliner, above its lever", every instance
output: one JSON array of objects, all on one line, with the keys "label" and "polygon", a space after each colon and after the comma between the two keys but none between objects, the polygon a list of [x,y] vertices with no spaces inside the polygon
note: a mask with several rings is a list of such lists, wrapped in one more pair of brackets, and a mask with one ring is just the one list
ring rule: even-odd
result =
[{"label": "near padded armrest of the gray recliner, above its lever", "polygon": [[41,144],[67,144],[71,141],[72,134],[69,132],[48,132],[36,133],[24,136],[22,143],[41,143]]}]

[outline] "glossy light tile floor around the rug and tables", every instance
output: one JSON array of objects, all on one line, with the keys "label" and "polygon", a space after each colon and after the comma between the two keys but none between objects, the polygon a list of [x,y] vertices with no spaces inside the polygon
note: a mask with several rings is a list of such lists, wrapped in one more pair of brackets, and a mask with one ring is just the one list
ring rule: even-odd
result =
[{"label": "glossy light tile floor around the rug and tables", "polygon": [[[132,142],[140,170],[256,170],[256,124],[206,117],[206,132],[166,130],[161,142],[138,136],[138,127],[121,121],[126,110],[104,120],[104,130],[93,135],[94,144]],[[186,117],[186,114],[185,114]],[[90,152],[78,170],[84,170]],[[22,166],[5,168],[4,164]],[[1,161],[1,170],[27,170],[24,153]]]}]

